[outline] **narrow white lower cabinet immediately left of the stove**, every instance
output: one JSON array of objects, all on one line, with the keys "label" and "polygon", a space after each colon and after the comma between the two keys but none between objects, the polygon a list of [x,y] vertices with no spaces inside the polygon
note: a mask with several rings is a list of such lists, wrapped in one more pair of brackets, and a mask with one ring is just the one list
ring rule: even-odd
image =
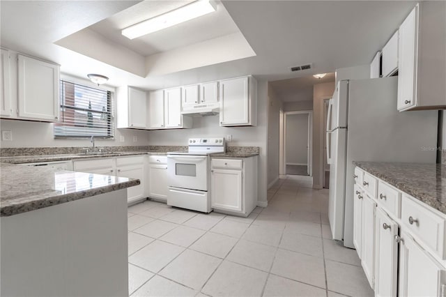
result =
[{"label": "narrow white lower cabinet immediately left of the stove", "polygon": [[148,197],[167,201],[167,157],[151,155],[148,158]]}]

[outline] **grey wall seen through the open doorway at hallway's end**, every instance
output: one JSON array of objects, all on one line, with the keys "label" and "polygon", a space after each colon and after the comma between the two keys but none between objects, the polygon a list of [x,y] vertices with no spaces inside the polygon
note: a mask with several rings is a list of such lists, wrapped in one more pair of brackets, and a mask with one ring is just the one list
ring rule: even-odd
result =
[{"label": "grey wall seen through the open doorway at hallway's end", "polygon": [[286,164],[307,165],[308,114],[286,115]]}]

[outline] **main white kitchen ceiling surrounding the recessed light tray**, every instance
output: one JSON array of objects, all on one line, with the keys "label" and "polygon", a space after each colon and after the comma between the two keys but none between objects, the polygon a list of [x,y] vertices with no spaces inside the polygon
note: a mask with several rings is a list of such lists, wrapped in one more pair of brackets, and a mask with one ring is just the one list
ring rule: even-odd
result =
[{"label": "main white kitchen ceiling surrounding the recessed light tray", "polygon": [[[144,54],[157,52],[151,55],[156,58],[152,59],[151,66],[156,66],[158,62],[167,65],[172,57],[176,58],[176,63],[187,61],[183,52],[196,52],[194,59],[189,60],[204,61],[214,51],[206,54],[205,46],[182,50],[187,47],[184,46],[186,43],[208,38],[208,28],[194,33],[180,33],[171,28],[171,36],[187,35],[181,40],[169,40],[169,36],[160,31],[153,43],[139,40],[148,43],[147,47],[135,43],[130,48],[130,45],[114,40],[118,37],[108,35],[111,29],[107,23],[110,26],[126,25],[132,14],[138,13],[137,7],[132,6],[153,5],[152,1],[139,2],[2,0],[1,45],[59,63],[63,73],[77,77],[85,77],[87,73],[107,75],[110,86],[129,84],[141,89],[162,89],[247,74],[275,81],[370,63],[376,51],[385,45],[415,6],[415,1],[222,1],[227,11],[227,15],[222,13],[222,20],[227,21],[229,15],[233,24],[226,22],[217,26],[215,36],[228,33],[236,26],[240,30],[238,34],[255,54],[245,54],[246,58],[233,61],[213,59],[213,64],[201,63],[195,68],[171,68],[170,72],[142,75],[144,68],[147,70]],[[178,5],[178,1],[160,1],[157,5],[163,6],[156,8],[161,10],[164,6]],[[121,23],[121,17],[117,15],[122,15],[125,22]],[[99,58],[80,54],[81,51],[54,44],[87,27],[91,33],[91,43],[87,44],[91,47],[89,50],[96,50],[99,58],[106,55],[107,61],[119,63],[104,63]],[[115,46],[110,51],[97,50],[95,43],[98,40]],[[203,43],[206,40],[195,45]],[[123,52],[126,54],[122,55]],[[220,50],[214,55],[227,52],[231,50]],[[314,68],[300,73],[289,72],[289,66],[303,63],[313,63]]]}]

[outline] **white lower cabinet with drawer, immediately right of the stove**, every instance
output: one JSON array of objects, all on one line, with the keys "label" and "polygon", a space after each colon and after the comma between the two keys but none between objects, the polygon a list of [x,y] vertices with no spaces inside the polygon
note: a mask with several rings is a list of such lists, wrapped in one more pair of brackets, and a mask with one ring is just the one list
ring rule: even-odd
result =
[{"label": "white lower cabinet with drawer, immediately right of the stove", "polygon": [[257,204],[257,157],[212,158],[210,168],[214,211],[248,216]]}]

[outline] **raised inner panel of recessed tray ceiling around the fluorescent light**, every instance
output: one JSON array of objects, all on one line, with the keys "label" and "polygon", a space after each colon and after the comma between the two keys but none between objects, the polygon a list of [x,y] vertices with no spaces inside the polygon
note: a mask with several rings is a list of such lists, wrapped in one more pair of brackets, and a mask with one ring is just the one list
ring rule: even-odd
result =
[{"label": "raised inner panel of recessed tray ceiling around the fluorescent light", "polygon": [[112,15],[112,17],[89,26],[89,29],[143,56],[174,50],[178,47],[239,31],[229,13],[218,1],[214,13],[203,15],[189,22],[177,24],[134,40],[130,40],[121,34],[122,29],[132,24],[167,13],[192,1],[142,1],[120,13],[116,13],[116,15]]}]

